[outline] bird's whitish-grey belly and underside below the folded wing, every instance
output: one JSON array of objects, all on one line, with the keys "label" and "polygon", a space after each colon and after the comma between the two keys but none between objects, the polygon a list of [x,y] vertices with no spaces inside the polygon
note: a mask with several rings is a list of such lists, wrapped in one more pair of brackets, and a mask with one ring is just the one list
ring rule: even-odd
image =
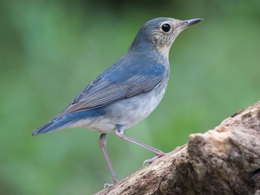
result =
[{"label": "bird's whitish-grey belly and underside below the folded wing", "polygon": [[82,127],[99,133],[112,133],[116,125],[125,124],[125,129],[145,119],[157,107],[166,89],[159,86],[139,95],[103,106],[106,114],[77,121],[74,127]]}]

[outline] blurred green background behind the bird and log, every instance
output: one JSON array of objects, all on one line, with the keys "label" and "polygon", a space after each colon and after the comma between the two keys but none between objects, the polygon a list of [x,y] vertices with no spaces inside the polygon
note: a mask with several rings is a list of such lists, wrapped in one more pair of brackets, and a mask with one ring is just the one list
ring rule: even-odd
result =
[{"label": "blurred green background behind the bird and log", "polygon": [[[164,152],[260,100],[260,1],[1,1],[0,194],[94,194],[112,177],[85,129],[30,133],[123,56],[156,17],[204,18],[170,51],[164,98],[125,134]],[[108,135],[119,180],[154,154]]]}]

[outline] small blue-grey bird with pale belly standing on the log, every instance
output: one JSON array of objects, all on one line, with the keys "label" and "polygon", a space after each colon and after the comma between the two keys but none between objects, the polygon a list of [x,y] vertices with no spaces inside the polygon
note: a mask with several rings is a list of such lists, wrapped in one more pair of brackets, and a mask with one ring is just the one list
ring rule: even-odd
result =
[{"label": "small blue-grey bird with pale belly standing on the log", "polygon": [[[94,79],[53,120],[31,135],[73,127],[101,133],[99,145],[114,183],[118,180],[106,150],[108,133],[115,132],[119,138],[154,152],[155,157],[145,160],[144,164],[164,156],[166,153],[124,135],[123,131],[145,119],[157,107],[168,83],[169,51],[173,41],[181,31],[202,20],[160,17],[146,22],[121,59]],[[105,184],[105,187],[112,185]]]}]

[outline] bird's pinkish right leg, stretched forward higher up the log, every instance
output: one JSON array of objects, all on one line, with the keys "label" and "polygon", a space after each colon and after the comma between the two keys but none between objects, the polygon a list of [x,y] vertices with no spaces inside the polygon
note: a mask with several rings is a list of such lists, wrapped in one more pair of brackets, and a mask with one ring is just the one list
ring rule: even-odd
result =
[{"label": "bird's pinkish right leg, stretched forward higher up the log", "polygon": [[142,143],[142,142],[140,142],[140,141],[137,141],[137,140],[135,140],[135,139],[133,139],[133,138],[130,138],[130,137],[124,135],[124,134],[123,134],[124,127],[125,127],[125,125],[117,125],[117,126],[116,126],[115,133],[116,133],[117,136],[119,136],[119,137],[122,138],[122,139],[131,141],[131,142],[133,142],[133,143],[135,143],[135,144],[138,144],[139,146],[142,146],[142,147],[144,147],[144,148],[147,148],[148,150],[151,150],[152,152],[154,152],[154,153],[156,154],[155,157],[153,157],[153,158],[151,158],[151,159],[148,159],[148,160],[145,160],[144,163],[143,163],[143,166],[144,166],[144,164],[145,164],[146,162],[152,163],[154,160],[156,160],[156,159],[158,159],[158,158],[160,158],[160,157],[162,157],[162,156],[164,156],[164,155],[166,154],[166,153],[164,153],[164,152],[162,152],[162,151],[160,151],[160,150],[158,150],[158,149],[156,149],[156,148],[153,148],[153,147],[151,147],[151,146],[148,146],[148,145],[146,145],[146,144],[144,144],[144,143]]}]

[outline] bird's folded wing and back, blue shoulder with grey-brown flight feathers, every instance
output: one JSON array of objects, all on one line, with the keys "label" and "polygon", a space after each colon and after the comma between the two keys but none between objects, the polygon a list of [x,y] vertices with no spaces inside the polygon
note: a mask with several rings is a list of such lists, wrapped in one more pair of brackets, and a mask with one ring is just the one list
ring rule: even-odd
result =
[{"label": "bird's folded wing and back, blue shoulder with grey-brown flight feathers", "polygon": [[165,74],[165,68],[157,62],[120,59],[84,88],[55,118],[151,90],[160,84]]}]

